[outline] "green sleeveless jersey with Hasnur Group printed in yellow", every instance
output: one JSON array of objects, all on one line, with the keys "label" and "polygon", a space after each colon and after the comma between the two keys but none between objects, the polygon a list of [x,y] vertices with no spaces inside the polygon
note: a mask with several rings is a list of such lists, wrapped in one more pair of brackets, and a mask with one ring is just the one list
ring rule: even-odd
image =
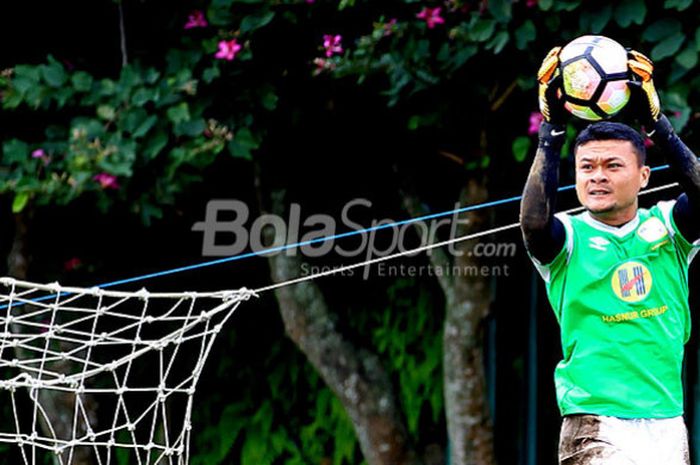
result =
[{"label": "green sleeveless jersey with Hasnur Group printed in yellow", "polygon": [[683,413],[688,267],[698,248],[676,227],[674,205],[639,209],[620,228],[588,212],[557,215],[566,245],[549,264],[533,258],[561,328],[554,378],[562,415]]}]

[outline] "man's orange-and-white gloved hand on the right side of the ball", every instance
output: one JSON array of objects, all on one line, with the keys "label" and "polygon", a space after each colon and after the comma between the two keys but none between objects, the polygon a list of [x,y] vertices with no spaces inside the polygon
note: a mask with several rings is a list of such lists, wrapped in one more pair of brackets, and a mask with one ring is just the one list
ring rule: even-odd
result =
[{"label": "man's orange-and-white gloved hand on the right side of the ball", "polygon": [[629,50],[627,52],[627,67],[632,78],[627,86],[632,93],[633,105],[640,112],[637,117],[647,131],[653,131],[656,122],[661,117],[659,94],[654,87],[654,63],[636,50]]}]

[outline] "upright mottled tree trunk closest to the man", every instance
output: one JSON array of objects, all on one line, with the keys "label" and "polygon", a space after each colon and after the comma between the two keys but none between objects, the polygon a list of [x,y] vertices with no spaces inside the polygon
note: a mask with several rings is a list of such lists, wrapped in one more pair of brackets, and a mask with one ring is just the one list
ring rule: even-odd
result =
[{"label": "upright mottled tree trunk closest to the man", "polygon": [[[479,203],[486,199],[486,195],[483,182],[470,180],[460,193],[459,204]],[[404,196],[404,205],[412,216],[427,213],[412,195]],[[469,212],[465,216],[466,226],[460,224],[456,236],[479,231],[485,223],[481,212]],[[452,249],[457,251],[454,259],[442,248],[432,249],[431,264],[436,268],[459,267],[463,270],[476,266],[476,257],[469,253],[472,246],[473,243],[458,243]],[[492,465],[495,463],[495,453],[486,396],[482,331],[482,321],[491,303],[489,278],[465,275],[446,272],[438,276],[446,302],[443,376],[450,464]]]}]

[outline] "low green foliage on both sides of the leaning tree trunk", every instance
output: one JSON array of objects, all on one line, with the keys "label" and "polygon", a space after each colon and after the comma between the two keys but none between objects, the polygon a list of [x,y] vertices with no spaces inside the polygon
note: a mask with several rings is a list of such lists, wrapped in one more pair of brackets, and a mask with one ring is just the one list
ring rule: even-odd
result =
[{"label": "low green foliage on both sides of the leaning tree trunk", "polygon": [[[416,442],[443,416],[442,321],[430,293],[412,280],[391,286],[383,309],[367,308],[349,322],[369,342],[391,378]],[[436,315],[438,314],[438,315]],[[236,353],[235,345],[230,349]],[[217,386],[245,386],[200,398],[194,412],[193,465],[332,463],[354,465],[361,453],[345,409],[303,354],[285,339],[266,348],[262,374],[219,360]]]}]

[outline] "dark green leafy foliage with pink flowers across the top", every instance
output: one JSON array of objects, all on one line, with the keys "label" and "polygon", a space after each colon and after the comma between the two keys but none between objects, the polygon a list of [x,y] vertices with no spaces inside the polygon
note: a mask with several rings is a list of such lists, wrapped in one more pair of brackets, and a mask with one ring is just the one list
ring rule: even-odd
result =
[{"label": "dark green leafy foliage with pink flowers across the top", "polygon": [[[44,116],[30,136],[5,139],[0,193],[13,197],[14,211],[31,203],[63,205],[90,195],[102,209],[127,203],[148,222],[198,182],[217,154],[227,151],[252,159],[263,141],[255,122],[277,109],[277,82],[288,70],[280,68],[279,74],[260,79],[254,74],[257,68],[246,63],[270,61],[253,56],[255,40],[265,31],[289,24],[303,28],[305,18],[324,11],[305,2],[302,10],[299,3],[211,0],[204,9],[210,28],[199,41],[185,35],[166,53],[165,66],[134,63],[117,78],[68,69],[52,56],[46,63],[18,64],[5,71],[0,76],[3,108]],[[321,34],[316,36],[321,53],[315,60],[308,56],[308,63],[316,63],[309,78],[331,74],[363,84],[383,82],[378,90],[387,103],[403,105],[409,113],[407,127],[420,130],[444,126],[443,114],[453,98],[476,104],[495,98],[491,89],[503,80],[531,81],[546,50],[592,32],[609,34],[650,55],[662,97],[670,86],[684,88],[669,97],[672,103],[663,100],[666,108],[683,113],[697,98],[700,28],[687,18],[700,7],[687,0],[666,0],[663,6],[644,0],[614,5],[539,0],[536,6],[454,0],[439,13],[444,22],[432,27],[417,17],[423,8],[404,0],[382,14],[381,7],[368,10],[365,2],[341,2],[339,15],[361,17],[373,11],[376,16],[366,16],[364,24],[353,20],[343,35],[342,53],[324,55]],[[242,45],[235,59],[216,60],[218,43],[232,38]],[[508,68],[505,64],[522,63],[523,57],[529,67],[501,71]],[[468,85],[453,85],[465,73]],[[241,83],[245,91],[230,102],[219,102],[217,92],[224,83]],[[532,92],[528,86],[519,89]],[[426,99],[433,102],[431,108],[421,103]],[[221,114],[220,108],[226,109],[225,119],[212,117]],[[689,121],[690,115],[677,118],[683,125]],[[519,159],[525,146],[516,143]],[[46,156],[32,157],[36,150]],[[147,174],[152,172],[158,175]],[[95,179],[100,173],[115,176],[119,189],[104,188]]]}]

